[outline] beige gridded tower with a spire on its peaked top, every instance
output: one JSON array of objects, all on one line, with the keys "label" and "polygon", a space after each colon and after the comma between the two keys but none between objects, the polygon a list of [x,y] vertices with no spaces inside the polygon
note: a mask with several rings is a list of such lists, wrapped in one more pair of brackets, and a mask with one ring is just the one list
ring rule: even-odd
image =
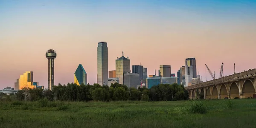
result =
[{"label": "beige gridded tower with a spire on its peaked top", "polygon": [[124,83],[124,73],[131,73],[131,61],[122,52],[122,57],[116,59],[116,78],[119,78],[119,84]]}]

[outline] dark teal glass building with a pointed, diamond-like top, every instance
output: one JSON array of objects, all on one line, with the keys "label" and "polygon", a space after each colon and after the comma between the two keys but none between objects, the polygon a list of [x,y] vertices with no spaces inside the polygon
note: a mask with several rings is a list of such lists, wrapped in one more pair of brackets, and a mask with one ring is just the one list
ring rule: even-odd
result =
[{"label": "dark teal glass building with a pointed, diamond-like top", "polygon": [[87,73],[81,64],[78,65],[78,67],[76,68],[76,71],[74,73],[74,82],[77,85],[81,85],[82,83],[84,85],[87,84]]}]

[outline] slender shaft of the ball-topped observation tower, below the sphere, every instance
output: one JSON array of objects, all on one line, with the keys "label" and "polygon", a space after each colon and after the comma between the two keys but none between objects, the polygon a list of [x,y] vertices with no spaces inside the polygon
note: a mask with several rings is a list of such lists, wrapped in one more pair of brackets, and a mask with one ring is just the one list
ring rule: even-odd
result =
[{"label": "slender shaft of the ball-topped observation tower, below the sphere", "polygon": [[54,85],[54,58],[48,59],[48,89],[52,90]]}]

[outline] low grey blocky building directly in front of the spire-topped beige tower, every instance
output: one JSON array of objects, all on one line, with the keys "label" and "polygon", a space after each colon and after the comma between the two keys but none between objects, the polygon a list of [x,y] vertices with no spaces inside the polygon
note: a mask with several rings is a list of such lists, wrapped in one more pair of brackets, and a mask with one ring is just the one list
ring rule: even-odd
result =
[{"label": "low grey blocky building directly in front of the spire-topped beige tower", "polygon": [[124,85],[126,85],[128,88],[137,88],[137,85],[140,85],[140,74],[125,73]]}]

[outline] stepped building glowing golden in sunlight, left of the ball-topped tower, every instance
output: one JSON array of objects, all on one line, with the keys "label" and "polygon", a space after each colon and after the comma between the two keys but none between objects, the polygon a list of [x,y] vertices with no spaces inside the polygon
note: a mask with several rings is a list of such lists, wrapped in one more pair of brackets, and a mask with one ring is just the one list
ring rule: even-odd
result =
[{"label": "stepped building glowing golden in sunlight, left of the ball-topped tower", "polygon": [[19,90],[22,88],[35,88],[33,86],[33,71],[26,71],[23,75],[20,75]]}]

